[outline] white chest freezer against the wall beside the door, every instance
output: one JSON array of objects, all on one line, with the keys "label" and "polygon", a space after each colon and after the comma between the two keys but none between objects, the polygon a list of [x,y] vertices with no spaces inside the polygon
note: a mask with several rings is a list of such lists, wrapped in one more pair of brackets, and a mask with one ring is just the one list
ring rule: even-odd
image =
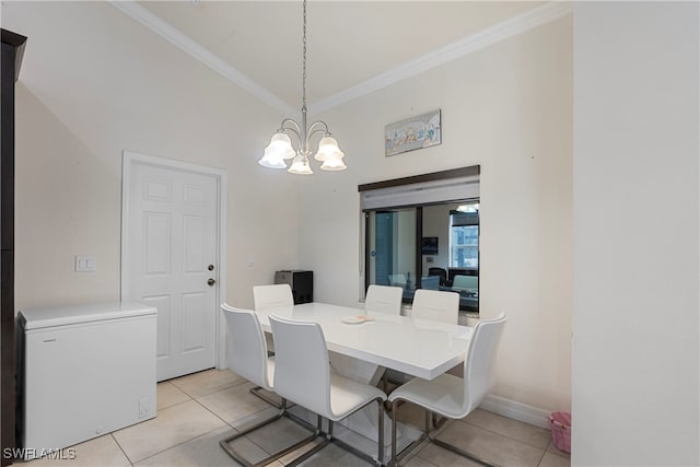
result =
[{"label": "white chest freezer against the wall beside the door", "polygon": [[127,302],[19,313],[26,460],[155,417],[156,313]]}]

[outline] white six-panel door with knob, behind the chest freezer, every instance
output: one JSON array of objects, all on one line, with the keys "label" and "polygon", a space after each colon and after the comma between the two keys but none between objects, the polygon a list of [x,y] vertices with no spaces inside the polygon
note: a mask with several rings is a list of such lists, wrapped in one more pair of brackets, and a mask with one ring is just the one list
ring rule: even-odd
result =
[{"label": "white six-panel door with knob, behind the chest freezer", "polygon": [[217,176],[138,162],[128,172],[122,291],[158,308],[158,381],[213,367]]}]

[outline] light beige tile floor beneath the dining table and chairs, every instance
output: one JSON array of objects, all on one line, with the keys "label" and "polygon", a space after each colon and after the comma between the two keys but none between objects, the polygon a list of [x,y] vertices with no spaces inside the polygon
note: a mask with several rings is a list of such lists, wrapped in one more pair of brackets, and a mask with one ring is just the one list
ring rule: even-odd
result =
[{"label": "light beige tile floor beneath the dining table and chairs", "polygon": [[[36,459],[18,463],[39,466],[235,466],[219,446],[236,427],[275,412],[253,396],[252,384],[230,371],[209,370],[158,385],[158,417],[110,434],[78,444],[73,459]],[[423,412],[405,404],[399,418],[422,428]],[[259,459],[290,440],[307,434],[295,423],[280,419],[255,435],[237,441],[235,447]],[[551,443],[548,430],[476,410],[464,420],[448,421],[440,439],[456,444],[503,467],[568,467],[570,456]],[[291,444],[291,443],[290,443]],[[272,464],[282,467],[294,453]],[[364,460],[328,445],[306,466],[366,466]],[[428,442],[418,445],[406,467],[477,466]]]}]

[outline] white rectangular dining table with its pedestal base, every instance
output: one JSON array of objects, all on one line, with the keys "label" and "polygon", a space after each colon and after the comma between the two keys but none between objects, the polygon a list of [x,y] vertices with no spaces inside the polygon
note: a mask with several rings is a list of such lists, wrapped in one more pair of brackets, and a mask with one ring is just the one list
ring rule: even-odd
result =
[{"label": "white rectangular dining table with its pedestal base", "polygon": [[[408,316],[368,313],[327,303],[256,311],[262,328],[271,332],[269,316],[318,323],[324,331],[330,365],[343,376],[376,385],[385,369],[433,380],[462,363],[474,328]],[[368,406],[340,422],[376,443],[376,407]],[[385,420],[385,443],[390,443],[392,420]],[[410,444],[420,432],[398,430],[400,444]],[[368,452],[370,452],[368,450]]]}]

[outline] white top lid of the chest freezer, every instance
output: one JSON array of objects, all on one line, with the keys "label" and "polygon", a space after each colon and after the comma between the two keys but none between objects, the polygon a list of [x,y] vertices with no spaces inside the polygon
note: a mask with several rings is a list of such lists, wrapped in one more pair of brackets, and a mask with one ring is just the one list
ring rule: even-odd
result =
[{"label": "white top lid of the chest freezer", "polygon": [[18,314],[20,326],[25,330],[65,326],[78,323],[102,322],[133,316],[158,314],[158,310],[138,302],[109,302],[85,305],[56,306],[22,310]]}]

